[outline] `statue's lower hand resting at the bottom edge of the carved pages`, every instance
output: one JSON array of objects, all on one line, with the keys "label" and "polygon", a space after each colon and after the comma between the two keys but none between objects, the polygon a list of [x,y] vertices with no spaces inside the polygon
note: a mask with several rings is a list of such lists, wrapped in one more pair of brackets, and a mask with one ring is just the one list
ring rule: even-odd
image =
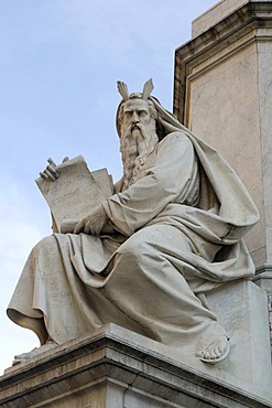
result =
[{"label": "statue's lower hand resting at the bottom edge of the carved pages", "polygon": [[99,235],[102,227],[107,224],[108,215],[100,204],[95,207],[91,213],[84,217],[75,226],[74,234],[85,233],[91,235]]}]

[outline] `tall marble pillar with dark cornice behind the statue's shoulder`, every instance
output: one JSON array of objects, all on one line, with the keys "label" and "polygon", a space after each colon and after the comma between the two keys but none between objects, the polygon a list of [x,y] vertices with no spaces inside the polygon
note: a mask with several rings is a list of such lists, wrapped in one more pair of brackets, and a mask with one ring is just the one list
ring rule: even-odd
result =
[{"label": "tall marble pillar with dark cornice behind the statue's shoulder", "polygon": [[261,221],[247,236],[272,292],[272,1],[221,0],[176,50],[174,111],[230,162]]}]

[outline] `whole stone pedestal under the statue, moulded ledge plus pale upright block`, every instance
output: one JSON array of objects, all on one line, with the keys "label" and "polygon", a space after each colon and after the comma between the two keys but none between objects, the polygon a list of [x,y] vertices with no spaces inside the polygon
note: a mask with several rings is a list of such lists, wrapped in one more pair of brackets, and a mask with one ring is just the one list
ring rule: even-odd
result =
[{"label": "whole stone pedestal under the statue, moulded ledge plus pale upright block", "polygon": [[226,361],[205,364],[194,344],[172,348],[109,324],[8,368],[0,377],[0,406],[272,407],[264,290],[240,281],[207,300],[231,336]]}]

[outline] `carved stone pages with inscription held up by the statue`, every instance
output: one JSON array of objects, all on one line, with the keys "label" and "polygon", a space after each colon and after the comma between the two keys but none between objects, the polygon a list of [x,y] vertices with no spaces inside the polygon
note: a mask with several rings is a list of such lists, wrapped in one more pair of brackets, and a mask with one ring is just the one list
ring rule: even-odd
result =
[{"label": "carved stone pages with inscription held up by the statue", "polygon": [[91,210],[113,194],[107,169],[90,172],[83,155],[57,165],[54,182],[35,180],[46,200],[53,218],[54,233],[73,232],[74,226]]}]

